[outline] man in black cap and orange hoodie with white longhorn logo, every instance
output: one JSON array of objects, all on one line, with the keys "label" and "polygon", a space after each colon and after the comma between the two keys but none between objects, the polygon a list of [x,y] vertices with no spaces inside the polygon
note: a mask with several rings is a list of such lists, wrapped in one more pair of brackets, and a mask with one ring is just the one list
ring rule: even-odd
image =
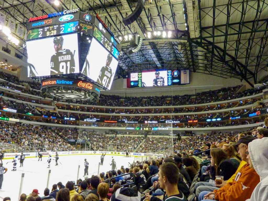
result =
[{"label": "man in black cap and orange hoodie with white longhorn logo", "polygon": [[[255,140],[253,136],[241,137],[237,143],[233,145],[238,146],[239,154],[243,161],[247,161],[248,143]],[[199,200],[218,200],[218,201],[245,201],[250,198],[254,188],[260,182],[260,177],[250,165],[245,164],[241,170],[236,174],[232,183],[228,183],[218,190],[213,192],[202,191],[199,194]]]}]

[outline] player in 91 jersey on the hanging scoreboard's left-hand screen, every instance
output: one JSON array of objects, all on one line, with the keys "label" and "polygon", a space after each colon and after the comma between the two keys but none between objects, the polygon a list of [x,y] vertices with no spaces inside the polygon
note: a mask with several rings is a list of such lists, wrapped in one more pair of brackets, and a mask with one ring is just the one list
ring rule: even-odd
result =
[{"label": "player in 91 jersey on the hanging scoreboard's left-hand screen", "polygon": [[72,51],[62,48],[62,36],[55,37],[53,43],[56,52],[50,59],[50,75],[74,73],[75,59]]}]

